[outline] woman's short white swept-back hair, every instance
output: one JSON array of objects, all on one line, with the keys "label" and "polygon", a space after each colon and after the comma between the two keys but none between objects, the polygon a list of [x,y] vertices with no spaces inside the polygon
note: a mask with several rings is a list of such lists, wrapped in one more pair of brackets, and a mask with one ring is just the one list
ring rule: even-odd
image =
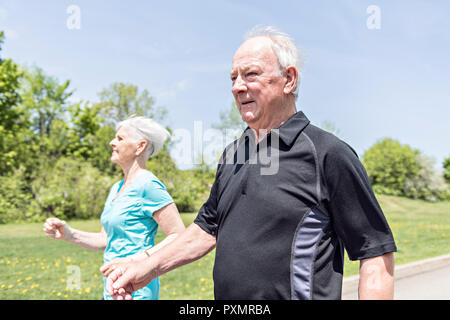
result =
[{"label": "woman's short white swept-back hair", "polygon": [[119,122],[116,130],[125,128],[127,132],[137,141],[147,141],[147,147],[143,152],[143,157],[147,161],[162,149],[170,133],[159,123],[147,117],[132,116]]}]

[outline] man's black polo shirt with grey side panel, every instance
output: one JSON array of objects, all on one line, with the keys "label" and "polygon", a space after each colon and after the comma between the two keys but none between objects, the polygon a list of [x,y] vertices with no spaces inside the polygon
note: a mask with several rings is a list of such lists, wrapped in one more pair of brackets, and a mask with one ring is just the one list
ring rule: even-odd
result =
[{"label": "man's black polo shirt with grey side panel", "polygon": [[344,248],[396,251],[355,151],[303,112],[226,148],[195,223],[216,237],[216,299],[340,299]]}]

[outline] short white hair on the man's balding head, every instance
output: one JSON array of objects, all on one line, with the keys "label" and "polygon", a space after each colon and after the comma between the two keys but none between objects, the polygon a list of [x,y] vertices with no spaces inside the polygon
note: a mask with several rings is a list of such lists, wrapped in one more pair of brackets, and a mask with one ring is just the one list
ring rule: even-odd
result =
[{"label": "short white hair on the man's balding head", "polygon": [[297,68],[298,79],[295,88],[292,90],[292,94],[297,98],[303,60],[292,37],[275,27],[257,25],[245,34],[244,39],[249,40],[256,37],[266,37],[272,41],[272,50],[278,58],[280,72],[281,68],[287,68],[289,66]]}]

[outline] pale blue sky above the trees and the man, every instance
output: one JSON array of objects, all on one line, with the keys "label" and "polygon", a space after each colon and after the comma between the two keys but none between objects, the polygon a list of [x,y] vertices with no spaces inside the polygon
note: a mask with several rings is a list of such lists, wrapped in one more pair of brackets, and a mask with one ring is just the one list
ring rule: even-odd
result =
[{"label": "pale blue sky above the trees and the man", "polygon": [[[69,5],[81,28],[66,26]],[[367,8],[380,9],[369,29]],[[2,56],[37,65],[74,99],[97,100],[115,81],[148,89],[166,124],[204,129],[233,101],[229,72],[257,24],[289,33],[305,57],[297,109],[331,121],[362,155],[392,137],[450,156],[449,1],[0,1]]]}]

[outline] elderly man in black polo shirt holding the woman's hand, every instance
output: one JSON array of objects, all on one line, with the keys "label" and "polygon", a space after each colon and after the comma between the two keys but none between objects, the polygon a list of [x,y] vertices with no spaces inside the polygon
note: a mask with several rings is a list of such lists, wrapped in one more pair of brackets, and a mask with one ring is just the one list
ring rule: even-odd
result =
[{"label": "elderly man in black polo shirt holding the woman's hand", "polygon": [[[356,153],[296,111],[298,57],[271,27],[237,50],[232,92],[248,128],[184,233],[145,261],[102,267],[111,295],[129,299],[216,248],[216,299],[340,299],[345,248],[361,261],[359,297],[393,298],[392,233]],[[266,152],[276,172],[252,161]]]}]

